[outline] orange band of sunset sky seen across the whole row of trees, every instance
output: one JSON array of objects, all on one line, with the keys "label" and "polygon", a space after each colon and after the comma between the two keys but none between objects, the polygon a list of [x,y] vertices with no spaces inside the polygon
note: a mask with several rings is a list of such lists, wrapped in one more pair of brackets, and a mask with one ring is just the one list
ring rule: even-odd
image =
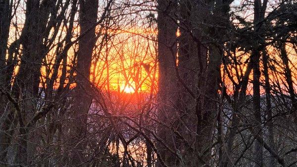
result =
[{"label": "orange band of sunset sky seen across the whole row of trees", "polygon": [[[77,30],[77,29],[76,29]],[[95,48],[93,55],[93,64],[91,67],[90,80],[99,88],[105,91],[120,91],[125,93],[137,92],[150,92],[150,88],[154,85],[154,89],[157,87],[157,60],[156,60],[156,42],[149,40],[146,37],[155,37],[157,32],[153,30],[143,30],[130,28],[129,30],[108,30],[109,35],[115,35],[115,37],[110,40],[110,42],[102,46]],[[139,34],[139,35],[137,35]],[[180,32],[177,32],[177,36]],[[99,38],[97,46],[99,46],[101,39]],[[78,46],[74,45],[68,51],[67,67],[70,70],[72,64],[74,50],[77,51]],[[267,47],[270,57],[275,61],[281,62],[276,49],[272,46]],[[55,47],[52,48],[49,55],[47,56],[46,62],[54,62],[54,52]],[[292,46],[287,45],[287,52],[290,58],[290,67],[292,68],[293,80],[296,83],[297,71],[294,64],[297,64],[296,51]],[[237,55],[242,55],[243,53],[237,52]],[[246,56],[242,56],[242,62],[245,61]],[[282,63],[280,63],[282,64]],[[279,70],[278,72],[283,72],[283,67],[275,64]],[[50,70],[52,65],[43,66],[41,73],[43,81],[45,81],[45,76],[47,76],[47,69]],[[238,65],[236,67],[240,71],[245,72],[245,65]],[[223,69],[223,67],[222,67]],[[237,81],[235,75],[235,68],[228,66],[228,69],[232,71],[233,79]],[[240,70],[241,69],[241,70]],[[17,68],[16,68],[17,71]],[[221,70],[222,76],[224,76],[224,70]],[[269,71],[273,73],[273,71]],[[251,73],[252,74],[252,73]],[[48,74],[51,77],[51,73]],[[58,77],[61,75],[59,72]],[[283,75],[270,75],[270,82],[282,81],[284,80]],[[227,86],[228,92],[232,93],[233,85],[228,77],[223,78]],[[252,80],[252,75],[250,75],[250,80]],[[59,79],[56,80],[55,87],[59,84]],[[261,81],[264,82],[264,77],[261,77]],[[156,91],[156,90],[155,90]],[[264,90],[262,90],[264,93]],[[252,94],[251,86],[248,87],[247,93]]]}]

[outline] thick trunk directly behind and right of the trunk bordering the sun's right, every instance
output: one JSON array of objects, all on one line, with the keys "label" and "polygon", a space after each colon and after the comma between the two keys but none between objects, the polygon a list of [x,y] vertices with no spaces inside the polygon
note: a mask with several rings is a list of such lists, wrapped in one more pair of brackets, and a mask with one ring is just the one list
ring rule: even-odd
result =
[{"label": "thick trunk directly behind and right of the trunk bordering the sun's right", "polygon": [[[200,7],[198,7],[200,6]],[[185,167],[197,166],[199,162],[198,154],[204,147],[201,146],[204,134],[199,135],[197,139],[192,133],[195,131],[201,132],[197,123],[197,110],[201,111],[201,99],[198,99],[203,73],[206,68],[206,48],[201,44],[201,26],[197,24],[201,20],[203,14],[207,14],[207,9],[202,3],[194,2],[193,0],[181,0],[180,6],[180,36],[178,37],[178,73],[179,80],[177,81],[177,127],[183,138],[177,138],[177,149],[188,150],[183,155],[183,165]],[[198,20],[199,18],[199,20]],[[204,77],[205,78],[205,77]],[[190,130],[188,130],[190,129]],[[196,140],[196,146],[187,145],[187,142]],[[201,142],[200,142],[201,141]],[[204,143],[205,144],[205,143]],[[206,145],[203,145],[206,146]],[[194,148],[195,147],[195,148]],[[206,146],[207,147],[207,146]]]}]

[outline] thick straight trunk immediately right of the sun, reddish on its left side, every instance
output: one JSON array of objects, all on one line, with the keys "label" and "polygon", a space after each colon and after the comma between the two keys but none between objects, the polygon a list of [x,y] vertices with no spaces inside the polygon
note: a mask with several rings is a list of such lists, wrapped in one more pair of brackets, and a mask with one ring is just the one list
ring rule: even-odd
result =
[{"label": "thick straight trunk immediately right of the sun, reddish on its left side", "polygon": [[[176,103],[176,31],[177,25],[172,18],[176,9],[176,1],[158,0],[158,119],[163,123],[170,124],[176,114],[176,109],[172,104]],[[166,10],[167,9],[167,10]],[[173,147],[170,129],[163,125],[158,125],[158,136],[169,147]],[[157,160],[157,167],[163,164],[174,166],[177,164],[176,158],[170,153],[162,143],[157,143],[160,158]]]}]

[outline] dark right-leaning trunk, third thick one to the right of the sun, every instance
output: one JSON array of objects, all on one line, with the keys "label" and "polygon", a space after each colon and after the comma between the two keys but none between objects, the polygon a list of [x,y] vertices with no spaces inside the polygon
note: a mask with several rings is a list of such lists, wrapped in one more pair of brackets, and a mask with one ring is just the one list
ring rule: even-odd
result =
[{"label": "dark right-leaning trunk, third thick one to the right of the sun", "polygon": [[[207,50],[203,51],[205,46],[201,45],[200,52],[205,52],[205,57],[201,53],[200,57],[207,63],[207,68],[201,69],[203,75],[199,78],[202,82],[198,85],[199,90],[202,93],[201,109],[196,108],[197,113],[197,138],[196,138],[196,152],[202,154],[199,163],[208,163],[211,159],[211,147],[212,147],[212,134],[215,121],[215,114],[218,111],[218,89],[220,85],[220,69],[222,56],[224,54],[222,41],[226,38],[227,28],[229,26],[229,5],[231,1],[215,1],[214,10],[211,12],[209,6],[199,4],[200,21],[205,24],[218,25],[225,28],[218,27],[200,27],[202,32],[196,32],[196,37],[201,43],[205,41],[205,37],[202,34],[209,33],[210,39],[215,39],[214,43],[209,44],[208,57],[206,56]],[[209,2],[211,4],[211,2]],[[206,14],[205,14],[206,13]],[[208,13],[208,14],[207,14]],[[211,14],[210,14],[211,13]],[[205,21],[205,18],[209,18],[209,22]],[[205,30],[206,28],[206,30]],[[201,34],[201,35],[199,35]],[[198,36],[197,36],[198,35]],[[209,39],[208,39],[209,40]],[[207,57],[207,58],[206,58]],[[207,62],[208,61],[208,62]],[[206,66],[206,65],[205,65]],[[205,70],[205,72],[204,72]],[[220,120],[219,120],[220,121]],[[223,134],[221,134],[223,135]],[[222,144],[222,143],[221,143]]]}]

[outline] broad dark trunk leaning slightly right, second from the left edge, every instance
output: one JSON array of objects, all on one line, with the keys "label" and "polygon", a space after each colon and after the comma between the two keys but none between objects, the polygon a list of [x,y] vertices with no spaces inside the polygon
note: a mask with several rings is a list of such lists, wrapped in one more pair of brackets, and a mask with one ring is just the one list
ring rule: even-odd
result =
[{"label": "broad dark trunk leaning slightly right, second from the left edge", "polygon": [[[14,79],[12,87],[12,96],[15,100],[30,99],[26,103],[20,103],[21,108],[17,110],[19,133],[21,137],[18,139],[18,151],[16,163],[28,165],[28,156],[34,153],[34,142],[28,142],[33,139],[32,134],[29,133],[29,128],[26,123],[29,123],[33,115],[39,111],[37,106],[39,102],[39,84],[40,84],[40,70],[42,60],[45,58],[49,49],[47,41],[49,30],[52,27],[49,22],[49,14],[54,16],[51,8],[55,8],[56,0],[27,0],[26,1],[26,18],[22,34],[20,38],[14,43],[12,50],[19,50],[22,45],[22,54],[20,56],[21,63],[19,71]],[[49,27],[47,27],[49,26]],[[45,40],[46,39],[46,40]],[[12,56],[13,51],[11,52]],[[34,126],[36,122],[30,125]],[[35,136],[36,137],[36,136]]]}]

